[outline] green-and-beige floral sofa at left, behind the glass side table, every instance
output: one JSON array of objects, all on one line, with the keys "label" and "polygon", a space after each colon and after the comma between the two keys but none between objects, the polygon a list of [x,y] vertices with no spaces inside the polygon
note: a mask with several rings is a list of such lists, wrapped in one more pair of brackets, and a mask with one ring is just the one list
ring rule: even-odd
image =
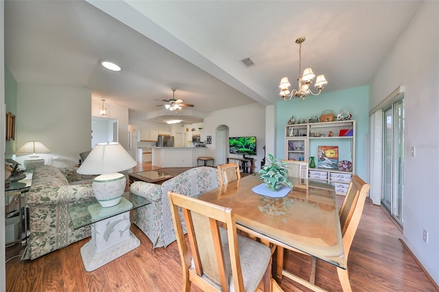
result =
[{"label": "green-and-beige floral sofa at left, behind the glass side table", "polygon": [[92,175],[80,175],[76,167],[36,167],[26,193],[29,207],[29,239],[23,259],[34,259],[58,250],[90,234],[90,227],[75,230],[67,206],[93,197]]}]

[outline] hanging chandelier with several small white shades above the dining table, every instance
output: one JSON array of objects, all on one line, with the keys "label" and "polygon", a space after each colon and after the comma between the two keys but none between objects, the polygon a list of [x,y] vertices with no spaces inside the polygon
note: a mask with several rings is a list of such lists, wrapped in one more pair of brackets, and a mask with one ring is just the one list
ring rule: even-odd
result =
[{"label": "hanging chandelier with several small white shades above the dining table", "polygon": [[314,87],[318,89],[318,93],[313,93],[311,89],[309,89],[309,84],[313,82],[314,75],[311,68],[307,68],[303,71],[302,77],[300,77],[300,73],[302,72],[302,56],[301,56],[301,49],[302,49],[302,42],[305,42],[305,36],[302,36],[296,40],[296,44],[299,45],[299,77],[298,77],[298,89],[293,89],[291,92],[289,91],[289,80],[288,77],[283,77],[281,79],[281,84],[279,84],[279,88],[281,89],[281,92],[279,95],[283,98],[283,100],[288,101],[289,99],[292,99],[292,97],[298,97],[301,101],[305,100],[305,97],[307,95],[320,95],[320,92],[322,91],[322,88],[324,88],[325,85],[328,84],[327,80],[324,78],[324,75],[318,75],[316,79],[316,84],[314,84]]}]

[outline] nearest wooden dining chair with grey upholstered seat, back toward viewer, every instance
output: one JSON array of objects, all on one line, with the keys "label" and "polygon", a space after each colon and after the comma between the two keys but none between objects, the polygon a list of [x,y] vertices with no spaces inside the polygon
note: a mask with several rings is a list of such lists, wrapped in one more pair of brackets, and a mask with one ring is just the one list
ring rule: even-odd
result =
[{"label": "nearest wooden dining chair with grey upholstered seat, back toward viewer", "polygon": [[[234,212],[200,199],[168,192],[182,261],[182,291],[271,291],[270,248],[237,234]],[[179,208],[185,218],[189,248]],[[227,229],[219,226],[225,223]]]}]

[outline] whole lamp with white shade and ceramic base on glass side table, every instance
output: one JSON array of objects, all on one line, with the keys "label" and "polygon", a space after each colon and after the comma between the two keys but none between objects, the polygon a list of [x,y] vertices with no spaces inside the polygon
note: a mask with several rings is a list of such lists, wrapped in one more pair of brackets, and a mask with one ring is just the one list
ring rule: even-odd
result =
[{"label": "whole lamp with white shade and ceramic base on glass side table", "polygon": [[117,171],[125,171],[135,165],[137,162],[119,143],[97,143],[77,172],[99,174],[92,183],[93,194],[102,207],[111,207],[119,204],[126,187],[125,175]]}]

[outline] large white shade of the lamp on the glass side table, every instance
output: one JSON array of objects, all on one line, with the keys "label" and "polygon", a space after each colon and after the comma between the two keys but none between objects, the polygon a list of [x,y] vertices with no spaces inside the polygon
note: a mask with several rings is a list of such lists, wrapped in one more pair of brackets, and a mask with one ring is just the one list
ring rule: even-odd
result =
[{"label": "large white shade of the lamp on the glass side table", "polygon": [[119,143],[97,143],[77,172],[81,174],[115,173],[136,165],[137,162]]}]

